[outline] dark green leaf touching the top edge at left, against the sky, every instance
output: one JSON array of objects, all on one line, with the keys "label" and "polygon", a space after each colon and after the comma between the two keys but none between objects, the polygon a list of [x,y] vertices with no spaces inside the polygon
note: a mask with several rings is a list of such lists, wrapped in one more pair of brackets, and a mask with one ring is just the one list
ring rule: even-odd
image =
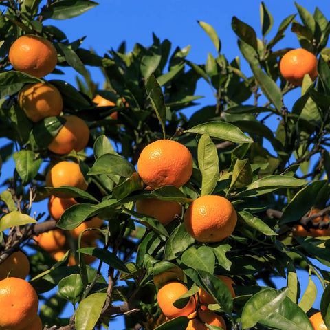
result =
[{"label": "dark green leaf touching the top edge at left, against the sky", "polygon": [[96,5],[98,3],[89,0],[62,0],[45,7],[41,15],[45,19],[72,19]]}]

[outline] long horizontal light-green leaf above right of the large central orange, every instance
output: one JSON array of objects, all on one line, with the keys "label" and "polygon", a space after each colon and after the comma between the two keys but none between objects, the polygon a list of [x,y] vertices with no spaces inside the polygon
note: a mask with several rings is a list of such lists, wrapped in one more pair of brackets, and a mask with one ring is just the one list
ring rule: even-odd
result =
[{"label": "long horizontal light-green leaf above right of the large central orange", "polygon": [[245,135],[239,128],[229,122],[206,122],[192,127],[192,129],[187,129],[184,133],[206,134],[210,137],[235,143],[253,142],[251,137]]}]

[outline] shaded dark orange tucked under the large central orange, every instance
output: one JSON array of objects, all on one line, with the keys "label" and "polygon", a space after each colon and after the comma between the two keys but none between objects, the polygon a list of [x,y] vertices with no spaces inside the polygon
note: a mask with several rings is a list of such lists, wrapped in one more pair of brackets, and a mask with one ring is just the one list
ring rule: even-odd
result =
[{"label": "shaded dark orange tucked under the large central orange", "polygon": [[160,199],[138,199],[135,203],[137,213],[146,214],[157,219],[162,225],[168,225],[181,215],[182,207],[176,201],[161,201]]}]

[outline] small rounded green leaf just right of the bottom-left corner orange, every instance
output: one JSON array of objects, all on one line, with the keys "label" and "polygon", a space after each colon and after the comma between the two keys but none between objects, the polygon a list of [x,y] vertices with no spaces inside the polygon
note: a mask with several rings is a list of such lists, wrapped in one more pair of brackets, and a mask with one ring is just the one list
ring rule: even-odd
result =
[{"label": "small rounded green leaf just right of the bottom-left corner orange", "polygon": [[58,293],[74,305],[80,300],[84,289],[83,281],[81,281],[79,274],[71,274],[62,278],[60,283],[58,283]]}]

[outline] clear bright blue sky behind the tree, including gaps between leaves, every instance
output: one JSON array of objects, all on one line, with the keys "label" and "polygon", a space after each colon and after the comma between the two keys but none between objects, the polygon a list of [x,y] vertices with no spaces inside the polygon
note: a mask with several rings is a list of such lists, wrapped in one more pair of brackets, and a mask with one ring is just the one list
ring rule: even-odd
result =
[{"label": "clear bright blue sky behind the tree, including gaps between leaves", "polygon": [[[271,32],[268,39],[276,34],[278,26],[285,17],[297,13],[294,1],[292,0],[265,0],[265,5],[274,17],[274,32]],[[300,0],[297,1],[309,12],[313,13],[316,5],[330,19],[330,1],[320,0]],[[144,46],[151,45],[152,32],[155,32],[159,39],[169,39],[172,42],[173,50],[179,46],[181,48],[191,45],[188,59],[197,64],[205,63],[208,52],[216,56],[216,50],[207,34],[197,24],[197,21],[204,21],[213,26],[221,39],[221,52],[231,61],[234,57],[240,56],[243,71],[249,75],[250,69],[242,58],[237,47],[237,37],[232,31],[231,20],[233,16],[251,25],[261,38],[260,23],[260,1],[250,0],[101,0],[100,5],[89,12],[67,21],[45,21],[45,24],[56,25],[67,34],[69,41],[75,41],[83,36],[87,36],[83,42],[83,47],[92,47],[97,54],[102,56],[107,50],[116,50],[122,41],[126,41],[127,50],[132,50],[135,43]],[[297,17],[298,21],[300,19]],[[287,30],[287,36],[278,45],[276,50],[285,47],[300,47],[296,35]],[[99,69],[89,68],[94,81],[100,83],[102,88],[103,78]],[[56,76],[67,80],[75,85],[76,72],[67,70],[66,76]],[[47,78],[54,78],[50,75]],[[294,91],[285,98],[285,105],[290,109],[300,91]],[[214,103],[212,91],[203,80],[197,85],[197,95],[203,95],[200,105],[191,111],[196,111],[204,105]],[[189,114],[189,113],[187,113]],[[1,142],[1,141],[0,141]],[[3,142],[3,141],[2,141]],[[7,171],[10,171],[9,173]],[[10,163],[5,164],[1,181],[5,174],[12,174]],[[304,273],[305,274],[305,273]],[[302,292],[308,280],[307,274],[300,274]],[[278,287],[285,286],[285,280],[277,281]],[[320,287],[318,280],[316,285]],[[321,293],[322,290],[319,290]],[[320,293],[314,307],[320,307]],[[67,313],[72,313],[67,309]],[[125,329],[122,321],[111,323],[109,329]]]}]

